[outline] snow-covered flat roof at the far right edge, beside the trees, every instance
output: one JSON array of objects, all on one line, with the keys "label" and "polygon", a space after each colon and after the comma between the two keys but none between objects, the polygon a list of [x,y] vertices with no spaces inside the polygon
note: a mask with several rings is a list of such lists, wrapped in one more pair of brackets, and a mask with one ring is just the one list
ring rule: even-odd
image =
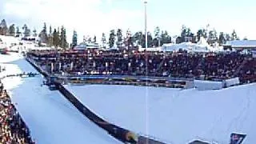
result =
[{"label": "snow-covered flat roof at the far right edge, beside the trees", "polygon": [[254,47],[256,48],[256,40],[234,40],[228,41],[224,46],[231,47]]}]

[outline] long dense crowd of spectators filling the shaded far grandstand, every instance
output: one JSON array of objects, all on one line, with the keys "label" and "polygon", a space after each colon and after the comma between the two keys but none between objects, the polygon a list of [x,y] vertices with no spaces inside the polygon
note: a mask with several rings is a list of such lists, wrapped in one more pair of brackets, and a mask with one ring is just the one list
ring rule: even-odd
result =
[{"label": "long dense crowd of spectators filling the shaded far grandstand", "polygon": [[33,51],[28,54],[49,73],[148,75],[207,80],[239,77],[255,81],[256,59],[239,52],[189,53],[87,50]]}]

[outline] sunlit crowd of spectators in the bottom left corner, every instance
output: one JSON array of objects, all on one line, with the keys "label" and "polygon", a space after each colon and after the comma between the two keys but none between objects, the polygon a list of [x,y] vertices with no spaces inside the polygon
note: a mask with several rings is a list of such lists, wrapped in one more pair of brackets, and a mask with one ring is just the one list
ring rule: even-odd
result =
[{"label": "sunlit crowd of spectators in the bottom left corner", "polygon": [[34,144],[30,131],[0,82],[0,143]]}]

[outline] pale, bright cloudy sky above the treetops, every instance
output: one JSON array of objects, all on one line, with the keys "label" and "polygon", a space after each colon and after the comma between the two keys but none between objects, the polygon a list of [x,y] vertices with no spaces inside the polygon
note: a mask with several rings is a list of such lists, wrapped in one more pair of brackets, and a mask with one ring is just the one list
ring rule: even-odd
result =
[{"label": "pale, bright cloudy sky above the treetops", "polygon": [[[254,0],[148,0],[148,28],[153,32],[160,26],[176,35],[183,24],[194,33],[210,24],[218,32],[235,29],[240,38],[256,39],[255,4]],[[142,0],[0,0],[0,18],[38,30],[43,22],[64,25],[69,40],[73,30],[78,31],[78,41],[83,35],[99,39],[111,29],[144,29]]]}]

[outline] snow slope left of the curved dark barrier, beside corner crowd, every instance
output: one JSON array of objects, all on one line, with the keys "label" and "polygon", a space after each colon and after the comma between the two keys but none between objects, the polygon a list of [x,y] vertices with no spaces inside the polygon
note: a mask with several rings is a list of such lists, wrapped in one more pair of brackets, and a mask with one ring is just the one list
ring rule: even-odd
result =
[{"label": "snow slope left of the curved dark barrier, beside corner crowd", "polygon": [[[18,54],[0,54],[0,65],[18,74],[37,72]],[[38,144],[121,143],[84,117],[58,91],[42,85],[43,78],[4,78],[2,82]]]}]

